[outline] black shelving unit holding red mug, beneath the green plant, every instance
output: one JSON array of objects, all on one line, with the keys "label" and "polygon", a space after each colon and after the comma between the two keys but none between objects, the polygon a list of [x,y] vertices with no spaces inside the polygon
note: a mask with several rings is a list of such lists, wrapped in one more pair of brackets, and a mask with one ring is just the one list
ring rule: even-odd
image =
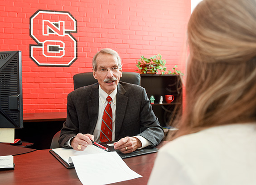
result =
[{"label": "black shelving unit holding red mug, beneath the green plant", "polygon": [[[155,102],[151,105],[159,123],[161,126],[171,125],[177,111],[182,109],[182,82],[179,75],[140,74],[140,77],[141,86],[146,89],[148,97],[152,95],[155,97]],[[166,103],[166,94],[174,95],[174,101]],[[163,104],[159,104],[161,96],[163,96]]]}]

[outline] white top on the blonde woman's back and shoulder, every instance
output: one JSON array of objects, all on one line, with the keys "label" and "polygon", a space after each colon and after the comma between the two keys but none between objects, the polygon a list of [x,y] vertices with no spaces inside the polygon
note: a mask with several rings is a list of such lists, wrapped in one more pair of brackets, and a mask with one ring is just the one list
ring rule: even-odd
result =
[{"label": "white top on the blonde woman's back and shoulder", "polygon": [[222,125],[160,148],[148,185],[256,185],[256,123]]}]

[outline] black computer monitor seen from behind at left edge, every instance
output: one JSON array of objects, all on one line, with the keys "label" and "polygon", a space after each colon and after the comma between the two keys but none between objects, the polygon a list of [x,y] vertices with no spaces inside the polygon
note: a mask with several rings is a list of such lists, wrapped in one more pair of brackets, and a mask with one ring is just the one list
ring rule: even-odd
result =
[{"label": "black computer monitor seen from behind at left edge", "polygon": [[23,128],[21,51],[0,51],[0,129]]}]

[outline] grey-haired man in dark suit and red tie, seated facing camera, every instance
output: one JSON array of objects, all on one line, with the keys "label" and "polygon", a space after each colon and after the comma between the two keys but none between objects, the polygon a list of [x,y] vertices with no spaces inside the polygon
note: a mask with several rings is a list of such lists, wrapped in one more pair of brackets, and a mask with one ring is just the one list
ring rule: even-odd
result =
[{"label": "grey-haired man in dark suit and red tie, seated facing camera", "polygon": [[[67,120],[61,130],[60,145],[82,151],[92,145],[92,141],[119,140],[114,148],[131,153],[159,144],[164,132],[152,111],[145,88],[119,82],[122,68],[118,53],[102,49],[93,57],[92,65],[98,83],[68,94]],[[106,106],[111,106],[108,108],[111,113],[105,110]],[[103,121],[103,112],[111,114],[107,118],[109,123]],[[101,126],[105,126],[110,136],[104,134]]]}]

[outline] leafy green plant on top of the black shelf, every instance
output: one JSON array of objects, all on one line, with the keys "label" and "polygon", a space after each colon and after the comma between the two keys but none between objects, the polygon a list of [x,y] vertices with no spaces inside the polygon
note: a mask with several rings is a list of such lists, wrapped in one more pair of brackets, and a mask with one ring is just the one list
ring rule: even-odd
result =
[{"label": "leafy green plant on top of the black shelf", "polygon": [[160,54],[158,54],[155,56],[151,56],[150,58],[140,56],[140,60],[138,61],[138,64],[136,66],[138,67],[140,74],[156,74],[159,70],[161,74],[165,74],[166,72],[168,72],[168,74],[184,75],[179,70],[175,69],[178,67],[177,65],[175,65],[173,68],[174,72],[171,72],[170,70],[167,71],[165,64],[166,61],[162,59],[162,56]]}]

